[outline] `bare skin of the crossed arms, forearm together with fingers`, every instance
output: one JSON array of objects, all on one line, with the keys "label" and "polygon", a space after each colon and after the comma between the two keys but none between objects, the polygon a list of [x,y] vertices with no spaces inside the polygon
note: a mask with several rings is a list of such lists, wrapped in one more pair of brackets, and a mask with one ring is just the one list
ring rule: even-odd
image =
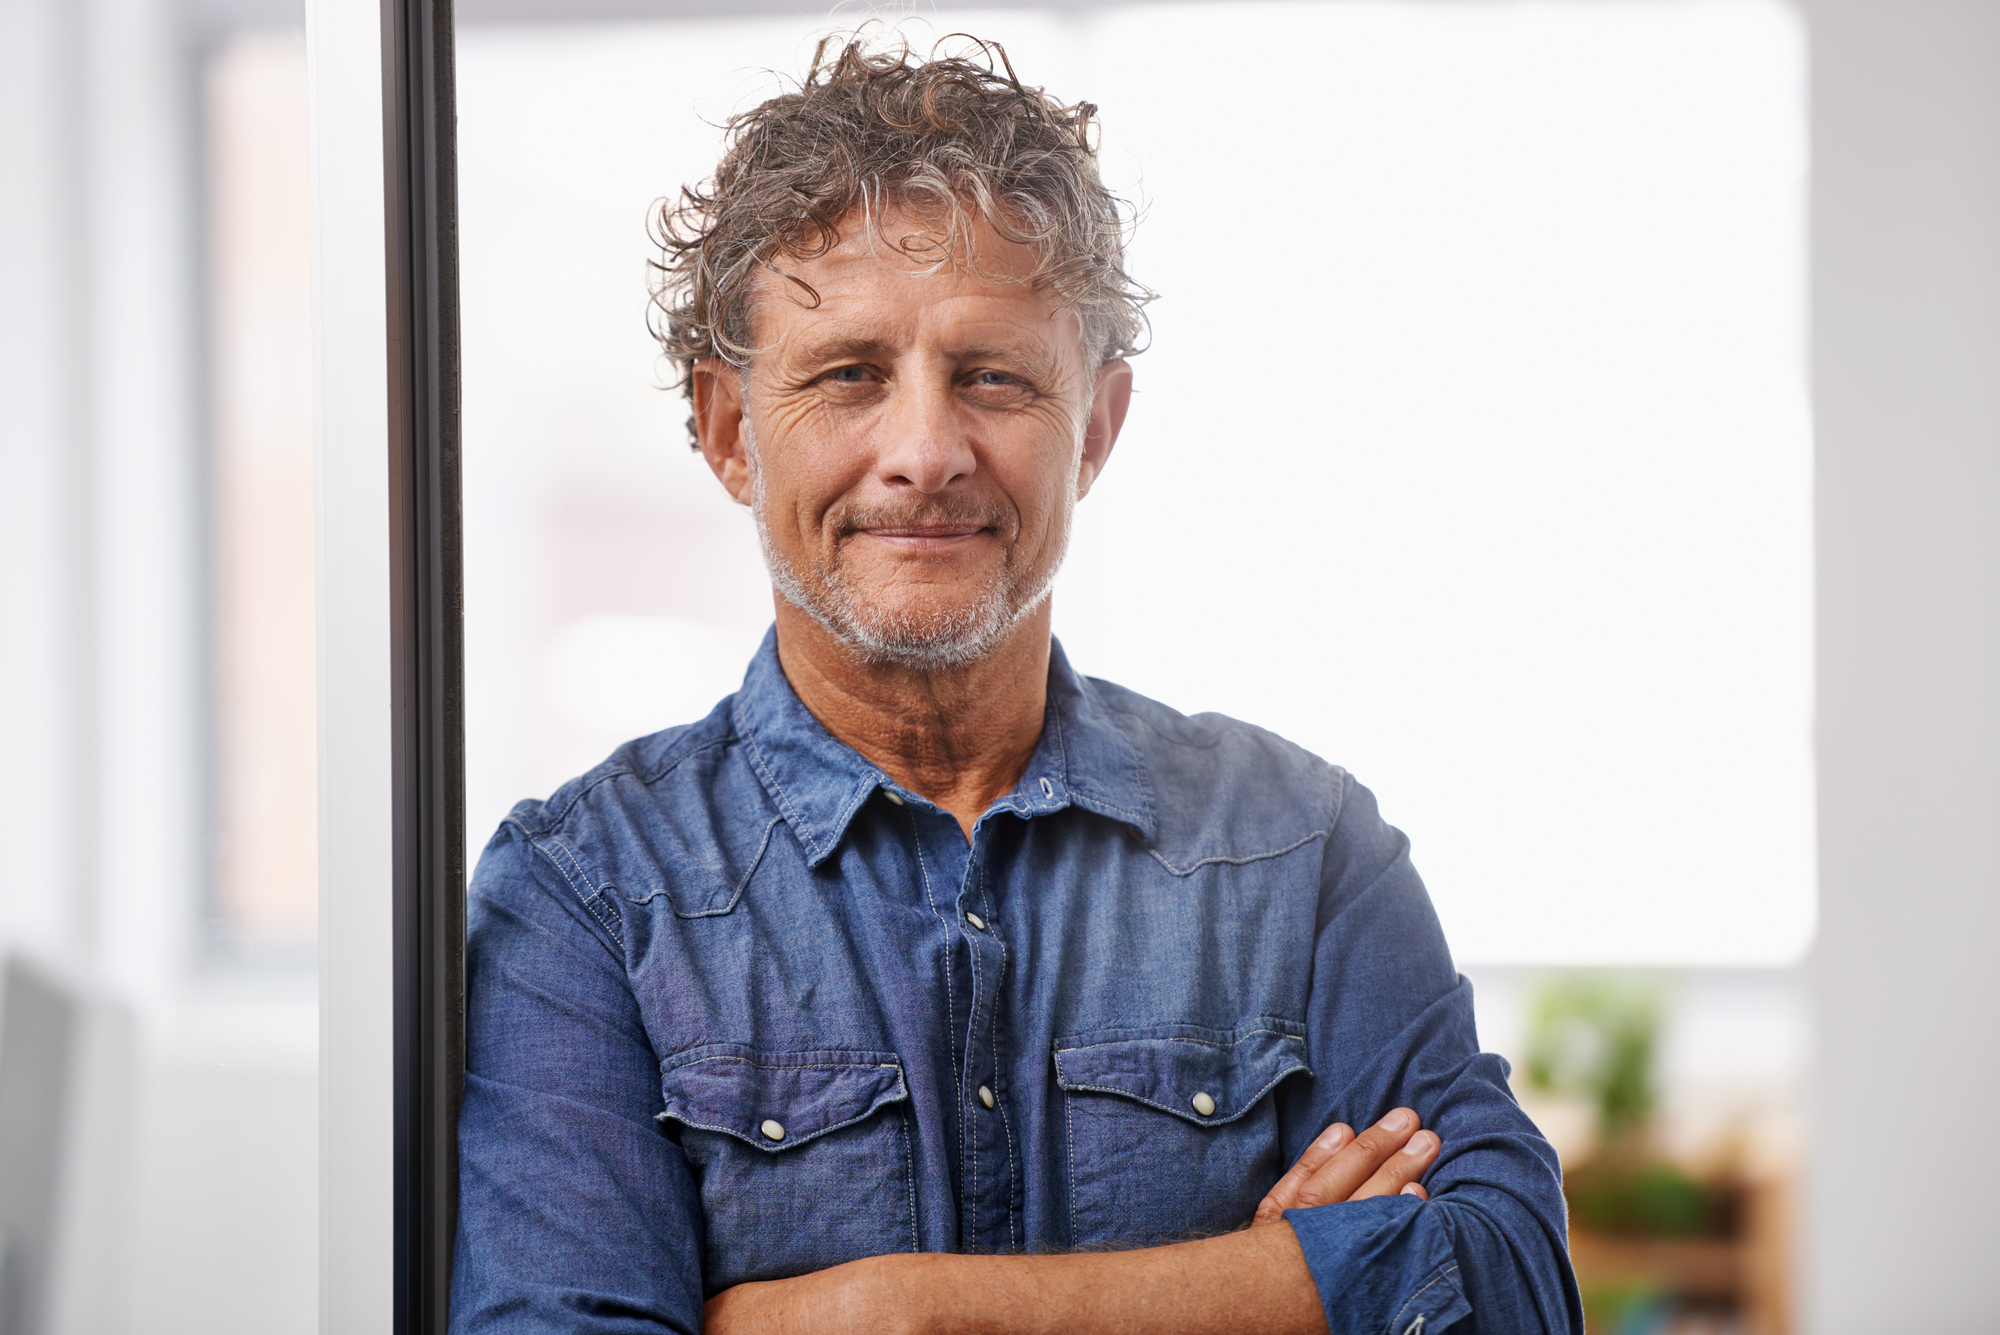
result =
[{"label": "bare skin of the crossed arms, forearm together with fingers", "polygon": [[1438,1137],[1398,1107],[1364,1133],[1336,1123],[1306,1147],[1248,1229],[1142,1251],[1038,1257],[908,1253],[724,1289],[710,1335],[1306,1335],[1326,1331],[1286,1209],[1398,1191]]}]

